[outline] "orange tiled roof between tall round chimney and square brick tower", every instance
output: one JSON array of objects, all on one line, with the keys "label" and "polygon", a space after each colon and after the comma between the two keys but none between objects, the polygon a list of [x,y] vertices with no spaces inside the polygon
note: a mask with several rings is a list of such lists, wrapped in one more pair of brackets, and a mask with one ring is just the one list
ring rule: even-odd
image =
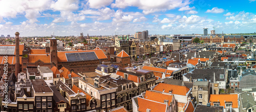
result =
[{"label": "orange tiled roof between tall round chimney and square brick tower", "polygon": [[50,55],[29,55],[29,63],[34,63],[41,60],[44,63],[51,63]]}]

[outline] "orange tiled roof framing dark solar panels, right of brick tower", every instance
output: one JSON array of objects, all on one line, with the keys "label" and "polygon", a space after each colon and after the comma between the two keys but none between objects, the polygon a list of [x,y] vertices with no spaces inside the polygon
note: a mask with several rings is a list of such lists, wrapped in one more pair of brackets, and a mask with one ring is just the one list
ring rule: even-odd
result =
[{"label": "orange tiled roof framing dark solar panels, right of brick tower", "polygon": [[81,51],[58,51],[58,62],[67,62],[67,57],[65,53],[81,53],[81,52],[95,52],[98,59],[107,59],[106,55],[102,50],[81,50]]}]

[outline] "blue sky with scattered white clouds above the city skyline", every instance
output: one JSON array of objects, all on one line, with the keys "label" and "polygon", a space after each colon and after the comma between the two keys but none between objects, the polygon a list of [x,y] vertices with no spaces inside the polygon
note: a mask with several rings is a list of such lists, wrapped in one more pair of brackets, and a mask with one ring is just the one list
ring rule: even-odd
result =
[{"label": "blue sky with scattered white clouds above the city skyline", "polygon": [[256,32],[256,0],[0,0],[0,35]]}]

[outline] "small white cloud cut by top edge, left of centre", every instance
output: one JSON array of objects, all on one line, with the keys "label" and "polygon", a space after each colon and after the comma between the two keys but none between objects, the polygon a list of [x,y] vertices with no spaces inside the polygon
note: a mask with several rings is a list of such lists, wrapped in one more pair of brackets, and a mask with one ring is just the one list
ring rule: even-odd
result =
[{"label": "small white cloud cut by top edge, left of centre", "polygon": [[89,4],[90,8],[99,9],[102,7],[109,6],[113,0],[89,0],[87,4]]}]

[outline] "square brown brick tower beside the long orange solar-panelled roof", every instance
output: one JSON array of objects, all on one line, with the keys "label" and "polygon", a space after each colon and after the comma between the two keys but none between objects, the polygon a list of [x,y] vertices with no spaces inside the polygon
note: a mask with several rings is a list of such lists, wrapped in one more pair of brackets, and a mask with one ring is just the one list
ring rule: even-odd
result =
[{"label": "square brown brick tower beside the long orange solar-panelled roof", "polygon": [[57,55],[57,39],[50,39],[50,58],[51,58],[51,68],[56,66],[58,68],[58,55]]}]

